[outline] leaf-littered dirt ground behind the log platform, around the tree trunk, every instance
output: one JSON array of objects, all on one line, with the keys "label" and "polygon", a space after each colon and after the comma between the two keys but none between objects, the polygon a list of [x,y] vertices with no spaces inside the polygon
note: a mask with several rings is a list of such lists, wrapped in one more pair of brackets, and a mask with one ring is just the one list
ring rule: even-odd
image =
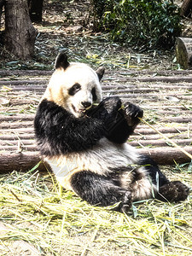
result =
[{"label": "leaf-littered dirt ground behind the log platform, around the tree trunk", "polygon": [[[183,1],[176,1],[179,5]],[[38,30],[35,53],[31,61],[18,61],[0,47],[0,67],[8,69],[52,69],[55,56],[65,50],[70,61],[83,61],[107,69],[178,68],[174,49],[138,49],[137,45],[120,45],[108,40],[108,35],[92,31],[88,10],[90,2],[53,1],[44,3],[43,21],[34,24]],[[183,37],[192,36],[191,19],[183,19]]]}]

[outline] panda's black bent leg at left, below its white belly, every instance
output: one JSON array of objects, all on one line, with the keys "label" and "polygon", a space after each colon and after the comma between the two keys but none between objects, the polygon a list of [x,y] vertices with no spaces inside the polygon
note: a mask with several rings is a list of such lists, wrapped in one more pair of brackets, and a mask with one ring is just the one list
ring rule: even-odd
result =
[{"label": "panda's black bent leg at left, below its white belly", "polygon": [[127,212],[131,207],[131,191],[120,188],[109,177],[90,171],[73,174],[70,180],[73,191],[84,201],[100,207],[119,205],[113,210]]}]

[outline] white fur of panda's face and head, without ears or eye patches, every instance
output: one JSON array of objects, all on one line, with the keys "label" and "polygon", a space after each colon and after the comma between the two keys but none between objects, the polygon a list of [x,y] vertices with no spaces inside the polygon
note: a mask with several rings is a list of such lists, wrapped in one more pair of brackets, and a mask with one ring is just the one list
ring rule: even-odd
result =
[{"label": "white fur of panda's face and head, without ears or eye patches", "polygon": [[[74,96],[68,95],[68,90],[76,83],[81,85],[81,90]],[[94,87],[96,88],[96,102],[99,103],[102,101],[102,89],[96,72],[83,63],[71,63],[66,70],[55,70],[43,98],[57,103],[79,118],[84,112],[81,102],[94,103],[91,94]]]}]

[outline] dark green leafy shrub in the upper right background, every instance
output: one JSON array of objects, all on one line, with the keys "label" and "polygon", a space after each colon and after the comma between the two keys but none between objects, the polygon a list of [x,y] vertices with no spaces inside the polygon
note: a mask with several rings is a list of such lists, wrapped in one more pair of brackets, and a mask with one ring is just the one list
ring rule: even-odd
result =
[{"label": "dark green leafy shrub in the upper right background", "polygon": [[181,32],[179,9],[172,0],[90,0],[94,26],[114,41],[147,47],[172,47]]}]

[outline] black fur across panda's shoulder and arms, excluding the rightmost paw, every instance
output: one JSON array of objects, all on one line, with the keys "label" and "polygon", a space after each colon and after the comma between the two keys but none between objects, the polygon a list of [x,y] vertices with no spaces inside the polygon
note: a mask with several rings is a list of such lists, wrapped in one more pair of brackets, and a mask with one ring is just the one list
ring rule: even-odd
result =
[{"label": "black fur across panda's shoulder and arms, excluding the rightmost paw", "polygon": [[124,143],[133,129],[119,108],[119,97],[107,98],[78,119],[55,102],[42,101],[34,120],[41,154],[79,152],[92,148],[102,137],[113,143]]}]

